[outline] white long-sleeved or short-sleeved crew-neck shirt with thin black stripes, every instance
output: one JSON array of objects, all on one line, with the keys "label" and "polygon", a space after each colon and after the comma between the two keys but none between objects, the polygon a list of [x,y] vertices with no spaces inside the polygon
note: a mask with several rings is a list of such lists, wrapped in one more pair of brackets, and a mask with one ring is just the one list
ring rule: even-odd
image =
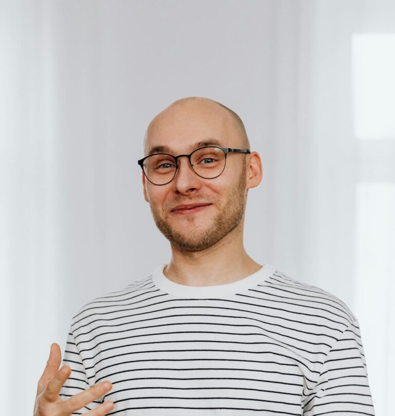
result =
[{"label": "white long-sleeved or short-sleeved crew-neck shirt with thin black stripes", "polygon": [[[71,320],[62,400],[109,380],[118,416],[374,415],[358,321],[336,296],[265,263],[188,286],[159,265]],[[258,413],[257,413],[258,412]]]}]

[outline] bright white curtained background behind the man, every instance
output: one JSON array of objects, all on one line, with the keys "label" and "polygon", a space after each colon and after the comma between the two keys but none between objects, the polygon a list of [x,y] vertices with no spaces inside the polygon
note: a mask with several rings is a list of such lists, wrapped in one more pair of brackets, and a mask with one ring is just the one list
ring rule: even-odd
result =
[{"label": "bright white curtained background behind the man", "polygon": [[262,157],[247,252],[348,304],[390,416],[394,34],[390,0],[0,0],[2,413],[32,413],[84,303],[169,261],[137,159],[159,111],[203,96]]}]

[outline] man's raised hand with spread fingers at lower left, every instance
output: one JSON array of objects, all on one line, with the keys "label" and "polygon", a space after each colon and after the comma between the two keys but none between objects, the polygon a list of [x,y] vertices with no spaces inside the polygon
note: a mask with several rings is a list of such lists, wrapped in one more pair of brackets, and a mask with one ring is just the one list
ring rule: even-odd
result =
[{"label": "man's raised hand with spread fingers at lower left", "polygon": [[[61,362],[60,347],[54,342],[51,344],[47,365],[37,384],[33,416],[69,416],[112,389],[112,384],[109,381],[104,381],[63,401],[59,393],[64,382],[71,374],[71,368],[63,366],[59,370]],[[113,407],[114,403],[104,402],[96,409],[85,414],[104,416]]]}]

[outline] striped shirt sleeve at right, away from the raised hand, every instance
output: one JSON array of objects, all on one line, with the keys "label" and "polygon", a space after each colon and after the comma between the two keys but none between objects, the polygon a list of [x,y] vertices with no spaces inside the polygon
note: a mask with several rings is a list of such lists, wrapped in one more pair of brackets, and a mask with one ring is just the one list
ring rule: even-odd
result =
[{"label": "striped shirt sleeve at right, away from the raised hand", "polygon": [[303,416],[374,416],[358,320],[327,354],[318,382],[305,398]]}]

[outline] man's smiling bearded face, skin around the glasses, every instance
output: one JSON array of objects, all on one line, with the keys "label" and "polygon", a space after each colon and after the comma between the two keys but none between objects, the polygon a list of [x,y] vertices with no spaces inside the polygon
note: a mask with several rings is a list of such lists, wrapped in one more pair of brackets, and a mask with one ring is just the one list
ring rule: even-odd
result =
[{"label": "man's smiling bearded face, skin around the glasses", "polygon": [[[243,148],[226,110],[204,101],[168,107],[151,122],[146,144],[148,151],[166,146],[169,149],[161,152],[176,156],[189,154],[195,143],[204,140],[216,140],[221,147]],[[246,157],[228,154],[225,170],[213,179],[196,175],[187,157],[178,159],[179,169],[169,184],[153,185],[142,174],[144,196],[156,226],[173,246],[182,251],[204,250],[240,228],[247,197]],[[174,210],[187,204],[208,205]]]}]

